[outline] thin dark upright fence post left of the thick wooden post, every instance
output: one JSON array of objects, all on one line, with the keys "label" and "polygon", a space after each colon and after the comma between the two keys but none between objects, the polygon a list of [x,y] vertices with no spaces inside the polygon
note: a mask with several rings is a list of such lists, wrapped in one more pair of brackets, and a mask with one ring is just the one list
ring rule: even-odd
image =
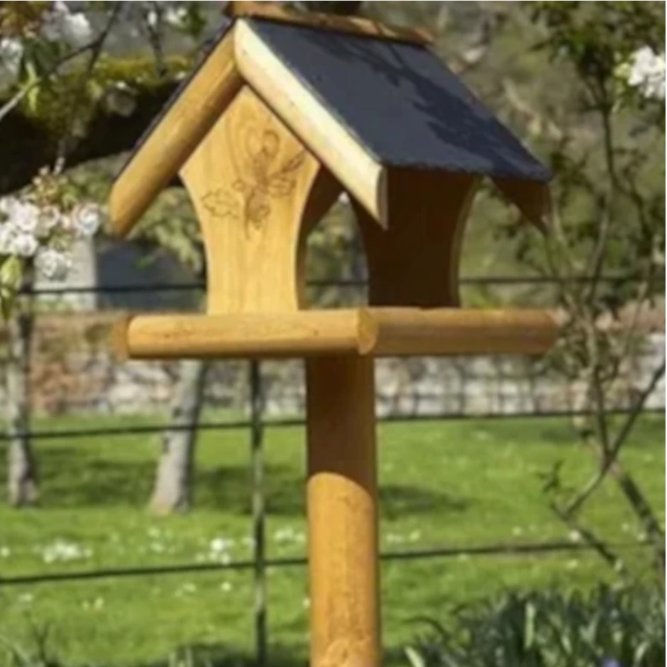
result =
[{"label": "thin dark upright fence post left of the thick wooden post", "polygon": [[264,397],[258,361],[250,361],[250,467],[253,484],[253,570],[255,587],[255,657],[266,667],[268,628],[266,603],[266,541],[264,503]]}]

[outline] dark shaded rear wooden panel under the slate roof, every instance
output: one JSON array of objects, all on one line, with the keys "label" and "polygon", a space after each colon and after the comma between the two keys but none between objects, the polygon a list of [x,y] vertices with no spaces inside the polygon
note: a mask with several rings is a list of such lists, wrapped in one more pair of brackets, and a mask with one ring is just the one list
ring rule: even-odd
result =
[{"label": "dark shaded rear wooden panel under the slate roof", "polygon": [[370,306],[458,306],[461,240],[479,182],[474,175],[392,169],[386,228],[354,205]]}]

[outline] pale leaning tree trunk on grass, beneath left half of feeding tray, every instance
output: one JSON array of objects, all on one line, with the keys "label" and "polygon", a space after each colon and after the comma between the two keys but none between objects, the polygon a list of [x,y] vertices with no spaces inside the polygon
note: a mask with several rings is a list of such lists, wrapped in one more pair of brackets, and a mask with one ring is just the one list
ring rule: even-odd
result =
[{"label": "pale leaning tree trunk on grass, beneath left half of feeding tray", "polygon": [[209,364],[202,360],[181,362],[181,377],[170,410],[162,453],[155,475],[150,509],[156,514],[187,512],[192,500],[192,470],[197,444],[197,423],[204,403],[204,385]]}]

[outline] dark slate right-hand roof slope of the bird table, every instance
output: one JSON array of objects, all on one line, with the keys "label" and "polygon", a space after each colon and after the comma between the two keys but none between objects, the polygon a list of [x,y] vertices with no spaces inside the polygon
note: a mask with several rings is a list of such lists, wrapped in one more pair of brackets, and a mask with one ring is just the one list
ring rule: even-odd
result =
[{"label": "dark slate right-hand roof slope of the bird table", "polygon": [[428,49],[259,18],[250,22],[380,162],[540,182],[551,177]]}]

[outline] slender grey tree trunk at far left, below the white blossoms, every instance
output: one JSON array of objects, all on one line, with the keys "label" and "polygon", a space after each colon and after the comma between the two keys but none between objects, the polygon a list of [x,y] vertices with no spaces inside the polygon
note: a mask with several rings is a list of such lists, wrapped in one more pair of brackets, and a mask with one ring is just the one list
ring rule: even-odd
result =
[{"label": "slender grey tree trunk at far left, below the white blossoms", "polygon": [[38,500],[37,471],[30,441],[30,370],[33,312],[31,297],[21,297],[8,323],[7,391],[7,492],[13,507]]}]

